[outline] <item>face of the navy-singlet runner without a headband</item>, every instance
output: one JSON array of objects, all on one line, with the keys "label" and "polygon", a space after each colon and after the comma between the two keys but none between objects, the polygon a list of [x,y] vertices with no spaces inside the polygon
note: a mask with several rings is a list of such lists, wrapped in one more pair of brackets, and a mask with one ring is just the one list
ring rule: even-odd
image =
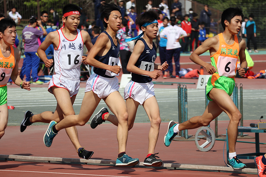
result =
[{"label": "face of the navy-singlet runner without a headband", "polygon": [[112,11],[109,19],[106,20],[107,27],[109,26],[113,31],[118,31],[120,29],[121,23],[122,23],[122,16],[119,11]]}]

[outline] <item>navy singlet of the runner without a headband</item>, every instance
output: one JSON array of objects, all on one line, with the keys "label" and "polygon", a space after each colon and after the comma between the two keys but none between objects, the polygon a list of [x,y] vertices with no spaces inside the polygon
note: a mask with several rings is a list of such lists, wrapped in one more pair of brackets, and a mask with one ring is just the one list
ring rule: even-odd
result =
[{"label": "navy singlet of the runner without a headband", "polygon": [[[108,65],[109,63],[109,57],[114,57],[114,58],[119,58],[119,42],[118,42],[118,39],[117,39],[117,46],[113,43],[113,39],[110,35],[108,35],[108,33],[106,31],[103,31],[110,39],[111,41],[111,48],[109,49],[109,51],[104,55],[104,56],[95,56],[95,59]],[[94,73],[98,74],[99,76],[103,76],[103,77],[106,77],[106,78],[113,78],[115,76],[107,76],[105,75],[106,73],[106,69],[101,69],[101,68],[96,68],[94,67],[93,69]]]}]

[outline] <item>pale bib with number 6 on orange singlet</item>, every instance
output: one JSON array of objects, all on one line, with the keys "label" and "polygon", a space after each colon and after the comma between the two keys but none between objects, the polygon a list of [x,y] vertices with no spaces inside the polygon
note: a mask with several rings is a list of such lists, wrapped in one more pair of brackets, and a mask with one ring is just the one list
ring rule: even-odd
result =
[{"label": "pale bib with number 6 on orange singlet", "polygon": [[236,74],[237,58],[219,56],[217,69],[219,76],[233,77]]}]

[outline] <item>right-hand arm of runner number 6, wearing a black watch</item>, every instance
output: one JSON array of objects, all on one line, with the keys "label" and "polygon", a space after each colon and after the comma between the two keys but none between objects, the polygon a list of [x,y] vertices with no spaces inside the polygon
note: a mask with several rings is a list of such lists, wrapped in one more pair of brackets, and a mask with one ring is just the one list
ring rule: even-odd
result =
[{"label": "right-hand arm of runner number 6, wearing a black watch", "polygon": [[246,42],[238,37],[239,43],[239,60],[240,60],[240,67],[237,68],[239,76],[243,77],[246,72],[243,68],[247,68],[247,62],[246,62]]}]

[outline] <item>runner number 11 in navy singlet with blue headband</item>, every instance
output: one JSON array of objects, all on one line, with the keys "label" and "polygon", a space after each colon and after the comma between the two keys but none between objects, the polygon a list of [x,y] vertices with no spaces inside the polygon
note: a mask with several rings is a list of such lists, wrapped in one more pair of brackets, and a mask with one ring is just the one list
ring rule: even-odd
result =
[{"label": "runner number 11 in navy singlet with blue headband", "polygon": [[[132,73],[132,80],[126,85],[124,99],[128,111],[128,130],[132,129],[139,105],[143,105],[148,118],[150,119],[150,132],[148,134],[148,152],[143,165],[161,166],[162,160],[158,159],[155,153],[155,146],[158,140],[160,129],[160,111],[154,94],[153,79],[157,79],[159,71],[165,71],[168,63],[162,65],[155,64],[156,47],[153,42],[158,32],[159,15],[154,9],[147,10],[136,18],[136,25],[142,30],[142,34],[131,40],[138,39],[134,46],[133,53],[127,64],[127,71]],[[141,37],[143,35],[143,37]],[[98,116],[97,114],[95,115]],[[118,125],[118,120],[109,113],[104,116],[104,120]],[[97,123],[97,125],[100,123]]]}]

